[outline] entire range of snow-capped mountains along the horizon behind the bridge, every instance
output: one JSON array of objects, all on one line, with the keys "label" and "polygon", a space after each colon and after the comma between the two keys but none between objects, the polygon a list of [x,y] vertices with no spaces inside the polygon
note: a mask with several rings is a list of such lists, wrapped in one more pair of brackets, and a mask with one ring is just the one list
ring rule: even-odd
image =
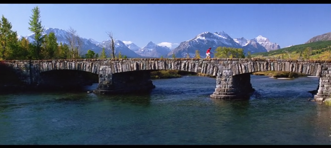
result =
[{"label": "entire range of snow-capped mountains along the horizon behind the bridge", "polygon": [[[58,43],[62,42],[68,44],[68,41],[65,38],[65,35],[68,33],[66,30],[58,28],[45,28],[45,31],[42,34],[49,34],[50,32],[55,33]],[[21,39],[23,36],[18,36],[18,38]],[[33,42],[34,34],[29,34],[25,36],[25,38],[27,38],[30,42]],[[107,55],[110,55],[111,50],[109,45],[111,42],[109,39],[102,42],[98,42],[91,38],[87,39],[80,37],[80,39],[84,43],[81,51],[82,54],[85,54],[89,49],[96,53],[100,53],[102,48],[105,48]],[[181,42],[177,47],[175,47],[176,45],[178,44],[169,42],[155,44],[151,41],[146,46],[140,48],[131,41],[115,40],[115,53],[118,55],[120,52],[122,55],[126,55],[130,58],[160,58],[161,56],[171,57],[172,54],[175,54],[176,57],[180,58],[186,57],[187,55],[194,57],[196,50],[200,51],[201,57],[206,57],[205,52],[209,47],[212,47],[212,51],[214,51],[219,46],[243,48],[245,53],[250,51],[252,54],[280,49],[278,44],[270,42],[268,38],[261,35],[254,39],[248,40],[244,37],[231,38],[224,31],[215,33],[203,32],[190,40]]]}]

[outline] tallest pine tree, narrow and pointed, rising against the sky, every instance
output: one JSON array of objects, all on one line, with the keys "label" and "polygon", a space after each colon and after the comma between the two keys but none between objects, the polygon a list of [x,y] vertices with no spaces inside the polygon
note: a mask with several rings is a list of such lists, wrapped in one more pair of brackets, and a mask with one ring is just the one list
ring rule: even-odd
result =
[{"label": "tallest pine tree, narrow and pointed, rising against the sky", "polygon": [[41,25],[40,10],[38,6],[32,9],[32,16],[29,21],[30,27],[28,29],[34,33],[35,48],[31,56],[33,59],[40,59],[41,45],[43,42],[42,32],[44,31],[44,26]]}]

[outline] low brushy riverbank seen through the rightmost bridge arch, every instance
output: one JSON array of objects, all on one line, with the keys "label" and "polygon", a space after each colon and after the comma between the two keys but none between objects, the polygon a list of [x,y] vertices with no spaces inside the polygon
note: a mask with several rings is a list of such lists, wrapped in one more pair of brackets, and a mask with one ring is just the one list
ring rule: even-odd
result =
[{"label": "low brushy riverbank seen through the rightmost bridge arch", "polygon": [[281,72],[281,71],[265,71],[265,72],[256,72],[252,73],[253,75],[265,75],[275,78],[297,78],[300,76],[307,76],[306,74],[301,73],[292,73],[292,72]]}]

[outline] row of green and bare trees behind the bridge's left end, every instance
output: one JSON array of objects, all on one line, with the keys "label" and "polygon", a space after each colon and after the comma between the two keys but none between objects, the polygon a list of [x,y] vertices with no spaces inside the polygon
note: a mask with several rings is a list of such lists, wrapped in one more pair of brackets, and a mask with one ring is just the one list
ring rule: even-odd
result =
[{"label": "row of green and bare trees behind the bridge's left end", "polygon": [[[88,50],[85,55],[82,55],[83,41],[72,27],[67,30],[68,33],[65,35],[68,44],[62,42],[59,44],[54,32],[43,35],[45,28],[41,24],[40,17],[40,9],[36,6],[32,9],[28,27],[34,34],[34,41],[29,42],[25,37],[18,39],[17,31],[12,30],[12,24],[2,15],[0,20],[0,60],[105,59],[108,57],[105,48],[100,55],[92,50]],[[116,57],[113,34],[112,32],[106,33],[111,39],[109,57],[126,58],[120,52]]]}]

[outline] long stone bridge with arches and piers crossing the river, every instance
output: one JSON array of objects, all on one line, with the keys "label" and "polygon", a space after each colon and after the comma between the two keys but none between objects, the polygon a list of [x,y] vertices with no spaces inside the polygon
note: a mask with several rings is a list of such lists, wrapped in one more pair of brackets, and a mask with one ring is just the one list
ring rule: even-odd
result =
[{"label": "long stone bridge with arches and piers crossing the river", "polygon": [[331,92],[331,61],[276,59],[78,59],[1,61],[18,74],[25,85],[38,85],[40,74],[54,70],[85,71],[99,75],[95,93],[143,91],[155,88],[150,72],[180,70],[216,76],[212,98],[235,99],[253,92],[250,73],[285,71],[319,76],[315,98],[328,98]]}]

